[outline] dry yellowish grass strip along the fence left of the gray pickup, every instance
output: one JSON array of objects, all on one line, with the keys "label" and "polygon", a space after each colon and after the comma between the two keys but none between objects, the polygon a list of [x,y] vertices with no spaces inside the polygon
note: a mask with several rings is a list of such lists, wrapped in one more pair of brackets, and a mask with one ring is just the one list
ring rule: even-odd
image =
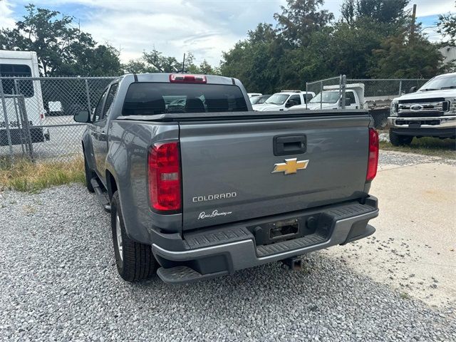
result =
[{"label": "dry yellowish grass strip along the fence left of the gray pickup", "polygon": [[85,182],[84,160],[71,162],[36,162],[0,160],[0,189],[39,192],[46,187]]}]

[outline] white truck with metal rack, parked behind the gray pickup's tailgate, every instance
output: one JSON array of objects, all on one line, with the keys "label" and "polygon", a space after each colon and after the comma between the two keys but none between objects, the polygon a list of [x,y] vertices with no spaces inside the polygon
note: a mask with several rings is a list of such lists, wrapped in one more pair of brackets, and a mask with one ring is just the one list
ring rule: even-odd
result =
[{"label": "white truck with metal rack, parked behind the gray pickup's tailgate", "polygon": [[[345,90],[345,108],[346,109],[367,109],[369,114],[375,120],[375,128],[385,127],[387,124],[388,114],[390,113],[391,100],[396,95],[383,96],[364,96],[364,84],[353,83],[347,84]],[[318,93],[312,98],[307,105],[294,105],[287,110],[304,109],[319,110],[319,109],[342,109],[342,95],[340,86],[324,86],[323,92]]]}]

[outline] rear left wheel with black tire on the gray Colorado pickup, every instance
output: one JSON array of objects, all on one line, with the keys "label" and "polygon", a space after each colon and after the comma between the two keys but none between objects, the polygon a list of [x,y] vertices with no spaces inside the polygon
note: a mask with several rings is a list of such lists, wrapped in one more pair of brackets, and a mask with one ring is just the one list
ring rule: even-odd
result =
[{"label": "rear left wheel with black tire on the gray Colorado pickup", "polygon": [[[118,244],[117,219],[119,219],[121,250]],[[122,279],[125,281],[138,281],[150,279],[154,276],[155,271],[157,271],[157,261],[152,254],[150,246],[133,241],[125,233],[117,191],[114,192],[111,199],[111,228],[113,230],[115,264]]]}]

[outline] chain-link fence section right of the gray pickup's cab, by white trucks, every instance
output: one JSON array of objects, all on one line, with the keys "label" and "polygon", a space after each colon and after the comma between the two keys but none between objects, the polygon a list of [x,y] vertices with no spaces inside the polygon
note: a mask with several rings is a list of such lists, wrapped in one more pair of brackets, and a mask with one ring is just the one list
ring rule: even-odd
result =
[{"label": "chain-link fence section right of the gray pickup's cab, by white trucks", "polygon": [[405,93],[423,86],[425,79],[348,79],[341,75],[334,78],[306,83],[306,91],[316,93],[307,105],[316,109],[367,109],[375,128],[388,124],[390,103]]}]

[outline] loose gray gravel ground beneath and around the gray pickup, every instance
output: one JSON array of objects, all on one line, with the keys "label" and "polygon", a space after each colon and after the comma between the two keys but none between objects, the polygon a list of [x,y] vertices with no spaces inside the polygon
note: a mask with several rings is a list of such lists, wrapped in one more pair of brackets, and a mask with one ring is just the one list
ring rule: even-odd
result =
[{"label": "loose gray gravel ground beneath and around the gray pickup", "polygon": [[80,185],[0,193],[0,222],[0,340],[456,341],[453,309],[323,252],[297,272],[275,263],[182,286],[125,283],[109,215]]}]

